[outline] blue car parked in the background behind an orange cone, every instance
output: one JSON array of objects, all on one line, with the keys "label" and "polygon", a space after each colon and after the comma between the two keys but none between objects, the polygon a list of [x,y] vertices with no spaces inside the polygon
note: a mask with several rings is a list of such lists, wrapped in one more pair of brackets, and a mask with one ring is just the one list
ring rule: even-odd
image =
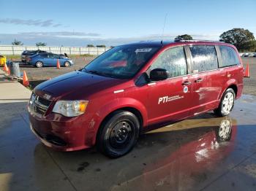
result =
[{"label": "blue car parked in the background behind an orange cone", "polygon": [[70,58],[49,52],[31,55],[27,58],[27,63],[37,68],[41,68],[42,66],[57,66],[57,59],[59,59],[60,66],[68,67],[74,65]]}]

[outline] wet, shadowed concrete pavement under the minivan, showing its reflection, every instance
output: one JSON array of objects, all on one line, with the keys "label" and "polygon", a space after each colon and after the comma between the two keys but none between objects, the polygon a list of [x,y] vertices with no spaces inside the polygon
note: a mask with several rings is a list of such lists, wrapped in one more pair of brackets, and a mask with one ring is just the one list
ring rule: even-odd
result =
[{"label": "wet, shadowed concrete pavement under the minivan, showing its reflection", "polygon": [[256,97],[142,136],[128,155],[56,152],[29,130],[26,102],[0,103],[0,190],[256,190]]}]

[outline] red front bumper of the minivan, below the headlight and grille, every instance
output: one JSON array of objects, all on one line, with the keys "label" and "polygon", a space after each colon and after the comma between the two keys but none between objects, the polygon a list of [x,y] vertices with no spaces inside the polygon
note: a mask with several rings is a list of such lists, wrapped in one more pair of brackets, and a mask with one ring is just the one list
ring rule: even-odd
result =
[{"label": "red front bumper of the minivan, below the headlight and grille", "polygon": [[94,130],[91,122],[83,122],[82,117],[63,117],[60,114],[48,114],[40,117],[29,111],[32,132],[48,147],[60,151],[75,151],[92,147]]}]

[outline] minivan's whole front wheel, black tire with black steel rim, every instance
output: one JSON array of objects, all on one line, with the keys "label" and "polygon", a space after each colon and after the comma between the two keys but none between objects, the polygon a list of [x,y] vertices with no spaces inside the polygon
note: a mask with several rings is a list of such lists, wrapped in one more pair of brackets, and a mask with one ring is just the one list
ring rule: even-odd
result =
[{"label": "minivan's whole front wheel, black tire with black steel rim", "polygon": [[99,128],[97,149],[111,158],[126,155],[135,146],[139,132],[140,122],[135,114],[113,112]]}]

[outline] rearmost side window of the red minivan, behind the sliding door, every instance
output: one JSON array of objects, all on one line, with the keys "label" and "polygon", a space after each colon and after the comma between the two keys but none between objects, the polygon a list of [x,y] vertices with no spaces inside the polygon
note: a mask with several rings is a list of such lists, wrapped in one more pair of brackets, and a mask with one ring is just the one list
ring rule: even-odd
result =
[{"label": "rearmost side window of the red minivan, behind the sliding door", "polygon": [[233,47],[219,46],[219,50],[222,55],[222,66],[219,66],[219,67],[233,66],[233,65],[240,64],[238,55],[236,54],[236,51],[233,49]]}]

